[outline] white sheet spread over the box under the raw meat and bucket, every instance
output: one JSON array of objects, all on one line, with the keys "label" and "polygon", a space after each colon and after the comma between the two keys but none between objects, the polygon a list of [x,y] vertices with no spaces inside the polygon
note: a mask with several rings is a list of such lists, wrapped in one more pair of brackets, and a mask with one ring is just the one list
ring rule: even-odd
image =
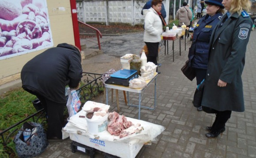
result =
[{"label": "white sheet spread over the box under the raw meat and bucket", "polygon": [[67,133],[79,134],[90,138],[97,137],[97,139],[105,141],[115,141],[128,144],[147,144],[149,141],[154,141],[155,138],[165,129],[165,127],[161,125],[126,117],[127,120],[131,121],[133,124],[140,123],[144,130],[140,133],[133,133],[132,135],[125,136],[123,138],[111,135],[107,130],[99,133],[98,135],[93,135],[88,132],[86,118],[79,118],[79,116],[85,115],[85,111],[79,111],[68,120],[68,124],[64,127],[64,130]]}]

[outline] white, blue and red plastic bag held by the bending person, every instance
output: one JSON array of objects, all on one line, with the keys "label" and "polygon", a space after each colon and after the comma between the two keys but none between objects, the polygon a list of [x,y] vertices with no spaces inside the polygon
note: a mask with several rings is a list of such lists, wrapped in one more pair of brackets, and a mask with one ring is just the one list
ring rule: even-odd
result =
[{"label": "white, blue and red plastic bag held by the bending person", "polygon": [[75,115],[81,106],[81,101],[76,93],[76,90],[70,90],[68,88],[68,101],[67,108],[69,116]]}]

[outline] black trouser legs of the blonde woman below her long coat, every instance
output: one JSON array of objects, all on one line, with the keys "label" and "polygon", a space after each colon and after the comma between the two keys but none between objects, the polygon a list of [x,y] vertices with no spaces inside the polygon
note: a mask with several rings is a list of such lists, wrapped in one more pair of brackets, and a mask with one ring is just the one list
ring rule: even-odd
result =
[{"label": "black trouser legs of the blonde woman below her long coat", "polygon": [[232,111],[218,111],[216,113],[216,118],[214,123],[212,124],[212,130],[219,130],[225,127],[226,122],[231,116]]}]

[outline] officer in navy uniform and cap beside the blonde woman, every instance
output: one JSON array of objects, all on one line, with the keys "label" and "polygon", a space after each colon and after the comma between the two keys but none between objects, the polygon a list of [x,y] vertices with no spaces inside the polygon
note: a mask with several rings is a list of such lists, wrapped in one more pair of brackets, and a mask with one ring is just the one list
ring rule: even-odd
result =
[{"label": "officer in navy uniform and cap beside the blonde woman", "polygon": [[[224,14],[224,6],[221,2],[222,0],[206,1],[207,14],[197,22],[194,28],[188,59],[189,66],[196,72],[196,85],[199,85],[206,76],[211,33]],[[197,108],[197,111],[202,111],[202,106]]]}]

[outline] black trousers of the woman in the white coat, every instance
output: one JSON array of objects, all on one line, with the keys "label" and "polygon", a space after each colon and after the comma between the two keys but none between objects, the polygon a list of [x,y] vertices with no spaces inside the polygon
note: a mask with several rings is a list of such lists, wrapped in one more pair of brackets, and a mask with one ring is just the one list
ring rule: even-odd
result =
[{"label": "black trousers of the woman in the white coat", "polygon": [[[153,62],[155,65],[157,65],[159,42],[157,43],[145,42],[145,43],[148,49],[147,62],[150,61],[150,62]],[[157,68],[156,68],[156,71],[158,71]]]}]

